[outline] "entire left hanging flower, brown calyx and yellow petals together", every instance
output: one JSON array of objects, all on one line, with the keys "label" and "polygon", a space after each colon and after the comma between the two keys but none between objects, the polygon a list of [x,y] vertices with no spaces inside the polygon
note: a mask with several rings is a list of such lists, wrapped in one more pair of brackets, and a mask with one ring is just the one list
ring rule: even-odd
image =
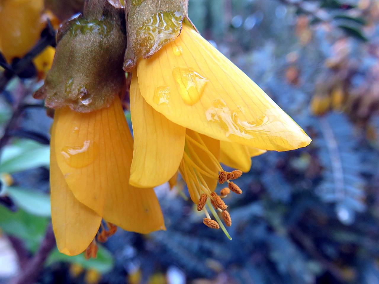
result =
[{"label": "entire left hanging flower, brown calyx and yellow petals together", "polygon": [[143,234],[164,229],[153,189],[128,183],[133,138],[121,104],[124,17],[104,1],[66,22],[45,83],[34,94],[55,109],[52,223],[58,249],[68,255],[86,250],[86,257],[96,256],[96,240],[105,241],[116,226]]}]

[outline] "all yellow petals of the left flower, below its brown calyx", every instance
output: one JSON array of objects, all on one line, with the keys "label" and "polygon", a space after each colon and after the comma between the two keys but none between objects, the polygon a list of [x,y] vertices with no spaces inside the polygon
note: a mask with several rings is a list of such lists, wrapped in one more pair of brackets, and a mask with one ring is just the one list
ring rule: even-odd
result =
[{"label": "all yellow petals of the left flower, below its brown calyx", "polygon": [[127,231],[164,229],[153,189],[128,184],[133,138],[118,96],[89,113],[56,109],[51,136],[52,221],[62,253],[84,251],[102,218]]}]

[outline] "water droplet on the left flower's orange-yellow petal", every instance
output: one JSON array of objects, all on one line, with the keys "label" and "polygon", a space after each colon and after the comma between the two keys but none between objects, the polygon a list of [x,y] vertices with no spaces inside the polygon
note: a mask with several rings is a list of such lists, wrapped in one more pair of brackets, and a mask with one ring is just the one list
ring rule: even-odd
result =
[{"label": "water droplet on the left flower's orange-yellow petal", "polygon": [[99,149],[93,141],[85,140],[81,146],[65,146],[61,150],[67,165],[84,168],[94,162]]}]

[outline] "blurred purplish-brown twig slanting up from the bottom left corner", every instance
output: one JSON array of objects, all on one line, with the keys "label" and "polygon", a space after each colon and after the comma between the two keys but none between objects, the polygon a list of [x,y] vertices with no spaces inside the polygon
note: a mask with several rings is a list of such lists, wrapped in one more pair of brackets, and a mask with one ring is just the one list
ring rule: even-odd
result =
[{"label": "blurred purplish-brown twig slanting up from the bottom left corner", "polygon": [[53,248],[55,248],[55,237],[52,224],[50,223],[37,253],[22,268],[21,273],[13,278],[9,284],[34,284]]}]

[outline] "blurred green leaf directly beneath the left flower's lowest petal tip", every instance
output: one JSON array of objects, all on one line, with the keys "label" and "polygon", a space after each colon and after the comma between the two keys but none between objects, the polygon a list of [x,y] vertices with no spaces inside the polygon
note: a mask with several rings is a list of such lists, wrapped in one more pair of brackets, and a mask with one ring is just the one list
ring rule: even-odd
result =
[{"label": "blurred green leaf directly beneath the left flower's lowest petal tip", "polygon": [[67,256],[66,254],[60,253],[58,249],[55,249],[47,259],[47,265],[58,261],[80,264],[84,268],[96,269],[100,273],[106,273],[113,268],[113,256],[102,246],[99,246],[97,257],[88,260],[85,259],[83,253],[77,256]]}]

